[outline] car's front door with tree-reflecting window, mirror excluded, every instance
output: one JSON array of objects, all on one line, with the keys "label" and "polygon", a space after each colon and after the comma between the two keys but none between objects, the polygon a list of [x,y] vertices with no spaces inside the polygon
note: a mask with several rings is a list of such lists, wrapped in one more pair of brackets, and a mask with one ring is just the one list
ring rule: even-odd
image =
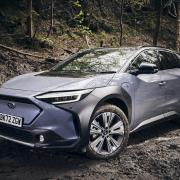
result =
[{"label": "car's front door with tree-reflecting window, mirror excluded", "polygon": [[[131,64],[134,70],[142,62],[156,64],[159,67],[159,59],[155,50],[145,50]],[[134,109],[135,121],[133,127],[139,128],[151,122],[164,118],[165,91],[161,80],[162,72],[154,74],[139,74],[134,76]]]}]

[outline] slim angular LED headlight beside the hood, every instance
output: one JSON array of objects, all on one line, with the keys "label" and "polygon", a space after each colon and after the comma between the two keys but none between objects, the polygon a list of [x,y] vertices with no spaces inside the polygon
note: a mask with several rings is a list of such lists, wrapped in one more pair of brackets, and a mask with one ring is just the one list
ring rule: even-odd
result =
[{"label": "slim angular LED headlight beside the hood", "polygon": [[70,92],[50,92],[36,96],[37,99],[54,105],[77,102],[91,93],[92,89]]}]

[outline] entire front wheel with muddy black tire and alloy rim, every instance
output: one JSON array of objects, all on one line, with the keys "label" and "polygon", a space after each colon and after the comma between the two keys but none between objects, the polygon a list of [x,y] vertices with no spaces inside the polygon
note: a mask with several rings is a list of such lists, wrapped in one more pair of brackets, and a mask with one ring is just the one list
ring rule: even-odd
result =
[{"label": "entire front wheel with muddy black tire and alloy rim", "polygon": [[103,105],[90,121],[86,155],[93,159],[113,158],[124,150],[128,139],[129,122],[124,112],[115,105]]}]

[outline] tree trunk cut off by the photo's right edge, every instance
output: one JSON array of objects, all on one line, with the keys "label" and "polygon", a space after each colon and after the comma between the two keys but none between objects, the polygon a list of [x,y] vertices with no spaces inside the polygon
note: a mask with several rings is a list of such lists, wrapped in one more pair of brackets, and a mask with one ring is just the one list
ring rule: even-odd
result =
[{"label": "tree trunk cut off by the photo's right edge", "polygon": [[176,50],[180,52],[180,0],[177,0]]}]

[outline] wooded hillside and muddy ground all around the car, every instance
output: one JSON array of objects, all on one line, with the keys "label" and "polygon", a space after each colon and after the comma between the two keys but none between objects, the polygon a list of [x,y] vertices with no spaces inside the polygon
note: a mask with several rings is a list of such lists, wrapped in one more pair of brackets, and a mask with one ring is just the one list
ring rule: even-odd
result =
[{"label": "wooded hillside and muddy ground all around the car", "polygon": [[[180,52],[180,0],[0,0],[0,85],[82,49],[124,46]],[[180,128],[170,121],[134,133],[107,161],[0,139],[0,179],[179,180]]]}]

